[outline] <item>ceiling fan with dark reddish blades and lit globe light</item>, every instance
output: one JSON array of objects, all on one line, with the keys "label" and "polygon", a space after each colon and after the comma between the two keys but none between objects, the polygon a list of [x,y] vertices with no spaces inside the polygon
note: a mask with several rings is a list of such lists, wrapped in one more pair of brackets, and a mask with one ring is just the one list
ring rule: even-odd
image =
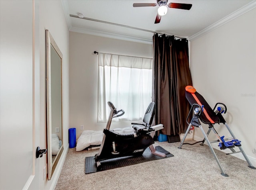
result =
[{"label": "ceiling fan with dark reddish blades and lit globe light", "polygon": [[160,23],[161,17],[167,13],[168,8],[185,9],[190,10],[192,4],[184,3],[169,3],[168,0],[156,0],[157,3],[134,3],[133,7],[155,7],[159,6],[158,13],[156,15],[155,24]]}]

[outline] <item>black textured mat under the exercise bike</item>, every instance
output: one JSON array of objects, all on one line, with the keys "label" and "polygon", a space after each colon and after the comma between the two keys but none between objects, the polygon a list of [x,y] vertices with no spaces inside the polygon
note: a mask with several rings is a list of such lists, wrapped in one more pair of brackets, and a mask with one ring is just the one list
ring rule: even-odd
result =
[{"label": "black textured mat under the exercise bike", "polygon": [[[163,149],[160,146],[156,146],[155,148],[156,148],[156,151],[161,152],[161,153],[165,153],[166,154],[165,158],[174,156],[170,152],[166,151],[165,149]],[[110,170],[110,169],[114,169],[114,168],[120,168],[120,167],[124,167],[124,166],[135,165],[135,164],[144,163],[144,162],[152,161],[152,160],[158,160],[158,159],[164,159],[164,158],[153,155],[151,153],[150,149],[147,148],[144,151],[142,156],[121,157],[121,158],[109,159],[107,161],[101,161],[100,163],[101,163],[102,169],[97,170],[96,162],[95,162],[94,157],[86,157],[85,158],[85,173],[89,174],[89,173],[93,173],[93,172]]]}]

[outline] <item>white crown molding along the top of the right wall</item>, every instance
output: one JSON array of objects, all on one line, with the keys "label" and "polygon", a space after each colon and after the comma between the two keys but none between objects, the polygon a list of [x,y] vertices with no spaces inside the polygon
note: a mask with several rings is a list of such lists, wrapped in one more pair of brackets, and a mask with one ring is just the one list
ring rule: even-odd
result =
[{"label": "white crown molding along the top of the right wall", "polygon": [[189,41],[193,41],[195,39],[198,39],[199,37],[202,37],[206,33],[209,33],[210,31],[220,27],[221,25],[226,24],[227,22],[230,22],[231,20],[237,18],[238,16],[241,16],[242,14],[245,14],[246,12],[256,8],[256,0],[248,3],[247,5],[243,6],[242,8],[238,9],[237,11],[229,14],[228,16],[224,17],[223,19],[219,20],[218,22],[206,27],[205,29],[201,30],[200,32],[188,37]]}]

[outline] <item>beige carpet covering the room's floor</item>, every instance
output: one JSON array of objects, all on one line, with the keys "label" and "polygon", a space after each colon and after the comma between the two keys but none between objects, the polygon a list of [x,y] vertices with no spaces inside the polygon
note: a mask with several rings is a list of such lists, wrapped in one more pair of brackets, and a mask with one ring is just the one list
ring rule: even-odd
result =
[{"label": "beige carpet covering the room's floor", "polygon": [[[187,141],[186,141],[187,142]],[[188,141],[194,143],[195,141]],[[85,174],[85,157],[98,150],[69,149],[55,190],[256,190],[256,170],[231,155],[216,155],[229,177],[220,174],[207,145],[158,142],[174,157]]]}]

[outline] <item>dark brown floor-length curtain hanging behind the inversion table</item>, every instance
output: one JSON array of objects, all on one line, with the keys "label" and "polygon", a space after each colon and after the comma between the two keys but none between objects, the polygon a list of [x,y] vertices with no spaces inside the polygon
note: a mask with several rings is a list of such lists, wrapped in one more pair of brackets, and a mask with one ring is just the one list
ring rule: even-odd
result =
[{"label": "dark brown floor-length curtain hanging behind the inversion table", "polygon": [[187,128],[189,103],[185,87],[192,86],[188,61],[188,40],[174,36],[153,36],[153,101],[156,103],[155,123],[162,123],[161,133],[168,142],[180,141]]}]

